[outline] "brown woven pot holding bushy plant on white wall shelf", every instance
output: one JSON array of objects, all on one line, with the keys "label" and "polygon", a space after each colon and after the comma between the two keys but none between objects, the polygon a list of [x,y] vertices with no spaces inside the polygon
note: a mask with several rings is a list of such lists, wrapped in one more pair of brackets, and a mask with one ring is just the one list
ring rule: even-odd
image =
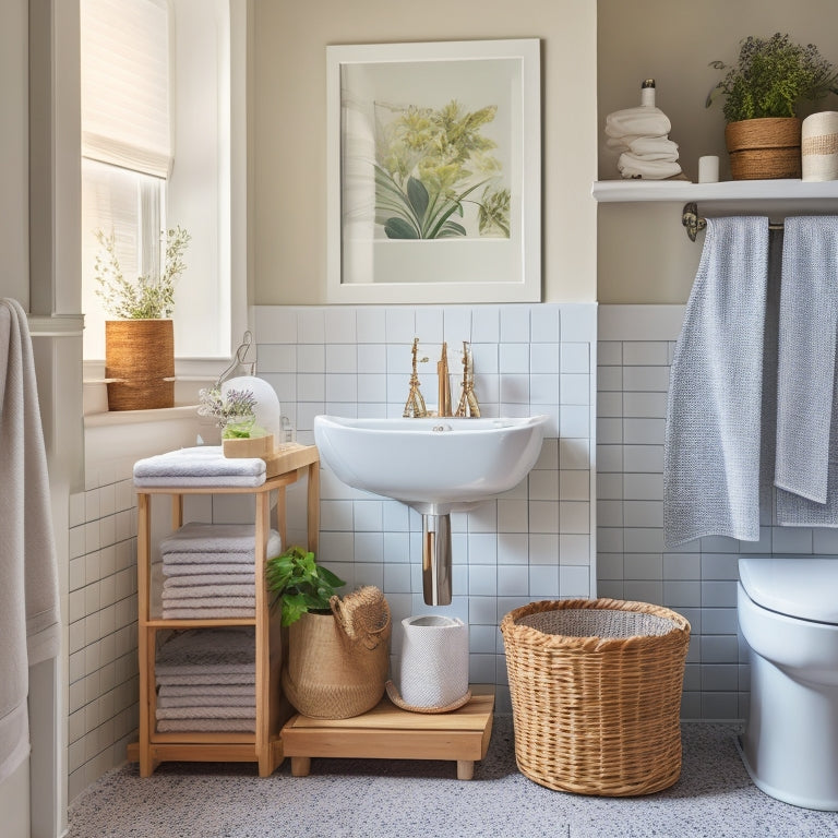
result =
[{"label": "brown woven pot holding bushy plant on white wall shelf", "polygon": [[795,117],[729,122],[725,143],[733,180],[775,180],[801,176],[801,121]]}]

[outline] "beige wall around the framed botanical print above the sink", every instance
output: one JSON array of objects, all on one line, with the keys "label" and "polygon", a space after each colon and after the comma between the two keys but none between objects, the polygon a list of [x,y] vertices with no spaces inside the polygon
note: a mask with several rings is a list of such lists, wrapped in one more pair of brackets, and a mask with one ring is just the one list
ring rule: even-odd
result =
[{"label": "beige wall around the framed botanical print above the sink", "polygon": [[525,37],[541,39],[543,299],[594,300],[596,3],[255,0],[253,302],[325,302],[326,45]]}]

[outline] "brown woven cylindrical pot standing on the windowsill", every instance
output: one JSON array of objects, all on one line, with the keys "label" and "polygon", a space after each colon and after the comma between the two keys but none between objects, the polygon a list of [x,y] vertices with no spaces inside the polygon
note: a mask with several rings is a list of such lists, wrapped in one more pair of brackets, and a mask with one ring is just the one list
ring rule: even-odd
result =
[{"label": "brown woven cylindrical pot standing on the windowsill", "polygon": [[171,320],[105,321],[109,410],[175,406],[175,327]]}]

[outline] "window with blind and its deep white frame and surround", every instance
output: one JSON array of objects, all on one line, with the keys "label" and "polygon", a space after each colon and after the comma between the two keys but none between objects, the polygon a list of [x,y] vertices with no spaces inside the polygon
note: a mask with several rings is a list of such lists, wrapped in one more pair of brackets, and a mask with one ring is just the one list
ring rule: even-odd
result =
[{"label": "window with blind and its deep white frame and surround", "polygon": [[97,228],[113,229],[129,277],[158,264],[160,230],[189,230],[173,314],[179,379],[214,379],[248,327],[246,7],[81,0],[86,361],[105,357]]}]

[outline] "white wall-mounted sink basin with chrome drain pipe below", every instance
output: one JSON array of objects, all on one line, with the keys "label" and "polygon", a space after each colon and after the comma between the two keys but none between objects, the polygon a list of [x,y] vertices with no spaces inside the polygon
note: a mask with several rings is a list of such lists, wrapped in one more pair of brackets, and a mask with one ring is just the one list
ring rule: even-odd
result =
[{"label": "white wall-mounted sink basin with chrome drain pipe below", "polygon": [[451,602],[451,513],[517,486],[536,464],[547,416],[347,419],[314,417],[321,459],[355,489],[422,516],[424,601]]}]

